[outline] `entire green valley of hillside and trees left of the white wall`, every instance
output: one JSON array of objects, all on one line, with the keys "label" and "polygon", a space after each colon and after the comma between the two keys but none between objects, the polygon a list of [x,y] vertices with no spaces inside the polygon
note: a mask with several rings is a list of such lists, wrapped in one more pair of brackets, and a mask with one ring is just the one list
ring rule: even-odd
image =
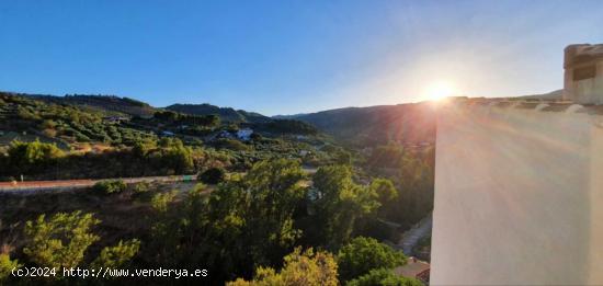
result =
[{"label": "entire green valley of hillside and trees left of the white wall", "polygon": [[[351,147],[294,119],[103,101],[0,94],[0,181],[110,179],[0,193],[0,284],[23,282],[8,270],[25,265],[204,267],[215,285],[420,285],[394,274],[407,259],[384,241],[431,211],[432,148]],[[175,174],[205,184],[117,180]]]}]

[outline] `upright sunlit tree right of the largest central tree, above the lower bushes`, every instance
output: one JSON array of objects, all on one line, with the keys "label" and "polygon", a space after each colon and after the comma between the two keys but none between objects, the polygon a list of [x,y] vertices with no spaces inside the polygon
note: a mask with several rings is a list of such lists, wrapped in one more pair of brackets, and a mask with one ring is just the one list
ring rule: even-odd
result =
[{"label": "upright sunlit tree right of the largest central tree, above the lower bushes", "polygon": [[312,179],[310,207],[316,225],[310,228],[318,230],[317,243],[338,249],[350,239],[356,220],[380,206],[378,196],[371,187],[354,183],[352,171],[345,165],[322,167]]}]

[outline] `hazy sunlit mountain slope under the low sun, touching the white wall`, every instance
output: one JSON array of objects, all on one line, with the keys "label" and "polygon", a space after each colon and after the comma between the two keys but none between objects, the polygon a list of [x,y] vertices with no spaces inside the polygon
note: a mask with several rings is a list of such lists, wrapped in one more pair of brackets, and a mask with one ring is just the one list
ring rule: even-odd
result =
[{"label": "hazy sunlit mountain slope under the low sun, touching the white wall", "polygon": [[428,102],[346,107],[277,117],[309,123],[343,142],[361,147],[389,141],[435,141],[435,108]]}]

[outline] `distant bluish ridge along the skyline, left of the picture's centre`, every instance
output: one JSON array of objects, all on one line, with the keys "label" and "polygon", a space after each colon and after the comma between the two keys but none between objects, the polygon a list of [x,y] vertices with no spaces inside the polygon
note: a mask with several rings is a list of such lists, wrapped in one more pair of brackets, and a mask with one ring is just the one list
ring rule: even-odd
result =
[{"label": "distant bluish ridge along the skyline, left of the picture's centre", "polygon": [[193,115],[218,115],[223,122],[244,123],[268,123],[270,117],[254,112],[235,110],[231,107],[219,107],[212,104],[172,104],[166,110],[193,114]]}]

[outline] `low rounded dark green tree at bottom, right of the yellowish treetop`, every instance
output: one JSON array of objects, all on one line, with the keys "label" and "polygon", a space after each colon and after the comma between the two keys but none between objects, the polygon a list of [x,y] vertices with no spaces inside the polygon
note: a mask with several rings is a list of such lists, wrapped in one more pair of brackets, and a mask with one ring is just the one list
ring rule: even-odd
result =
[{"label": "low rounded dark green tree at bottom, right of the yellowish treetop", "polygon": [[341,279],[350,281],[374,268],[394,268],[406,263],[402,252],[373,238],[357,237],[337,255]]}]

